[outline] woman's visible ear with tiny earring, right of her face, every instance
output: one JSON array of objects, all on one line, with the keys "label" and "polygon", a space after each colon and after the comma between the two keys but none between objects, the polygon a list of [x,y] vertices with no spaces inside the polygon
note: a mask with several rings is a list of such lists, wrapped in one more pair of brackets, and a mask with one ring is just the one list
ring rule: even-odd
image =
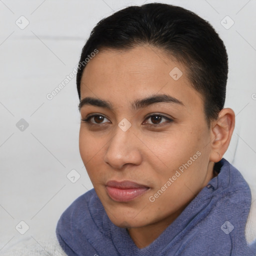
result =
[{"label": "woman's visible ear with tiny earring, right of her face", "polygon": [[223,108],[217,120],[211,123],[211,153],[209,160],[218,162],[229,145],[235,123],[235,114],[231,108]]}]

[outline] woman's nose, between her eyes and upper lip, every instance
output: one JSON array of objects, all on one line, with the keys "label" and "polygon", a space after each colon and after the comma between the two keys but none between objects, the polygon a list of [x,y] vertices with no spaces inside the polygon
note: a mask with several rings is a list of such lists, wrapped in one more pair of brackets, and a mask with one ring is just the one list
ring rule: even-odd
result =
[{"label": "woman's nose, between her eyes and upper lip", "polygon": [[104,161],[115,169],[121,169],[124,164],[139,165],[142,160],[141,144],[131,127],[123,131],[117,126],[106,149]]}]

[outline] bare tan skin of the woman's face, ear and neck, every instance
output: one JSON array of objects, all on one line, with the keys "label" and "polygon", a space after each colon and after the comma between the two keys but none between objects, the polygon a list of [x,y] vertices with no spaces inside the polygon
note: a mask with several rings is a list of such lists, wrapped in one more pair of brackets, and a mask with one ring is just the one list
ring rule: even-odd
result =
[{"label": "bare tan skin of the woman's face, ear and neck", "polygon": [[[183,73],[178,80],[169,75],[174,67]],[[136,246],[143,248],[214,176],[214,162],[222,158],[232,135],[234,112],[222,109],[208,127],[203,96],[189,82],[186,67],[161,49],[146,45],[122,51],[100,49],[83,71],[80,92],[81,99],[90,96],[112,105],[112,109],[81,106],[81,119],[91,113],[102,117],[81,121],[80,155],[110,220],[127,228]],[[131,107],[136,99],[163,93],[183,104]],[[118,126],[123,118],[131,124],[126,131]],[[197,151],[201,155],[154,202],[149,201]],[[117,202],[106,192],[109,180],[131,180],[149,189],[131,201]]]}]

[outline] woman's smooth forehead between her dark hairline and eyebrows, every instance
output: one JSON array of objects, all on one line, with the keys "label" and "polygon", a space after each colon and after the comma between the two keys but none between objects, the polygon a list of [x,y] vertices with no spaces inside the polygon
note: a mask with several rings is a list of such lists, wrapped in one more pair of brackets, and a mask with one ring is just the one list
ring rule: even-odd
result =
[{"label": "woman's smooth forehead between her dark hairline and eyebrows", "polygon": [[188,105],[203,103],[187,78],[186,67],[153,46],[99,49],[83,71],[80,91],[81,99],[94,96],[125,102],[167,93]]}]

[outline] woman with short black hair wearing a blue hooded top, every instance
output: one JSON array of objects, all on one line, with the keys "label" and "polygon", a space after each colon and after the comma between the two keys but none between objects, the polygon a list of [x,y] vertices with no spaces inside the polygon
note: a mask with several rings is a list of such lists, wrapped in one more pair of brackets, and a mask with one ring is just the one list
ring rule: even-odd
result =
[{"label": "woman with short black hair wearing a blue hooded top", "polygon": [[255,255],[248,184],[222,158],[225,46],[178,6],[130,6],[102,19],[77,72],[79,149],[93,189],[61,215],[67,255]]}]

